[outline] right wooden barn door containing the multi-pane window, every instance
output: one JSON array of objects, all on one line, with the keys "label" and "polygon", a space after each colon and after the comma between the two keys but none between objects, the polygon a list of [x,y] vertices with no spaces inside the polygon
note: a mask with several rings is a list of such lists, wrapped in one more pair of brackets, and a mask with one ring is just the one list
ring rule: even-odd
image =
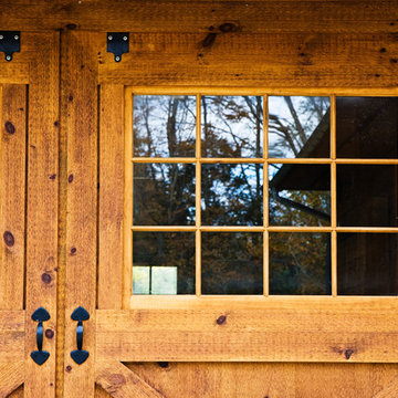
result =
[{"label": "right wooden barn door containing the multi-pane window", "polygon": [[[380,160],[336,154],[336,108],[362,106],[342,100],[347,88],[338,87],[353,85],[357,69],[347,64],[350,72],[343,76],[317,64],[286,65],[275,73],[270,57],[277,59],[277,45],[253,52],[247,43],[254,39],[244,34],[229,43],[237,59],[268,67],[268,74],[249,72],[233,57],[223,63],[230,48],[221,39],[209,53],[200,48],[199,56],[203,38],[196,34],[122,33],[129,53],[116,62],[107,53],[109,36],[116,38],[66,32],[61,41],[67,143],[64,395],[387,397],[396,391],[398,303],[395,284],[385,283],[397,265],[396,224],[375,227],[371,218],[365,226],[355,218],[337,222],[337,201],[346,200],[336,189],[343,166],[385,164],[395,170],[397,164],[394,155]],[[301,43],[277,40],[286,48]],[[367,51],[359,42],[354,46],[349,51]],[[350,93],[388,97],[389,84],[369,81],[367,90]],[[281,135],[270,138],[276,119],[273,114],[270,122],[269,109],[275,104],[280,109],[282,101],[287,107],[279,122],[290,113],[295,123],[294,96],[308,97],[308,107],[318,104],[314,117],[320,119],[308,122],[316,133],[311,145],[292,155],[271,148]],[[248,115],[258,139],[244,138]],[[234,122],[243,136],[232,134]],[[394,172],[388,176],[396,187]],[[294,201],[283,198],[285,190],[321,193],[314,193],[312,208],[300,203],[307,193],[296,192]],[[223,195],[230,202],[220,199]],[[349,214],[360,216],[349,206]],[[232,208],[235,219],[226,214]],[[292,220],[297,211],[302,218]],[[349,264],[358,264],[358,256],[338,260],[338,253],[356,248],[360,261],[368,261],[370,242],[381,249],[389,242],[388,261],[377,263],[389,268],[376,273],[379,266],[369,261],[356,273],[362,282],[353,281]],[[307,264],[301,279],[291,270],[297,261]],[[358,364],[349,365],[353,373],[347,363]],[[229,381],[220,386],[223,380]]]}]

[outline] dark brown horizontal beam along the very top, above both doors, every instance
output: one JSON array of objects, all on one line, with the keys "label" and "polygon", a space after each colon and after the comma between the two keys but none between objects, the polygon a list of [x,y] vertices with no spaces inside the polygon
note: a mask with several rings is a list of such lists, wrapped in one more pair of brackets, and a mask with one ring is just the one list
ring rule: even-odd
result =
[{"label": "dark brown horizontal beam along the very top, above both doors", "polygon": [[396,1],[56,0],[2,3],[3,29],[136,32],[397,32]]}]

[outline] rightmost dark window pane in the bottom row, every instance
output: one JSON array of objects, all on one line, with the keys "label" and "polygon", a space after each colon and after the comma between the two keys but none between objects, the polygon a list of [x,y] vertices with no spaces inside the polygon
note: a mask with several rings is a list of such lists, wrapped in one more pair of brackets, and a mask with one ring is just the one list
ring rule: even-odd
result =
[{"label": "rightmost dark window pane in the bottom row", "polygon": [[337,293],[398,294],[398,234],[337,233]]}]

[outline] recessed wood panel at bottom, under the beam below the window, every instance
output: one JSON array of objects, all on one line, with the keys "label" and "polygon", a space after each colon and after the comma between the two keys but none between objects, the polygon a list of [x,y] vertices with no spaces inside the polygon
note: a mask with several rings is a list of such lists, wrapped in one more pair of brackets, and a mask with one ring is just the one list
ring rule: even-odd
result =
[{"label": "recessed wood panel at bottom, under the beam below the window", "polygon": [[[391,398],[398,394],[397,365],[140,363],[126,366],[160,397],[167,398]],[[114,380],[121,380],[116,375]],[[117,390],[117,383],[113,388]],[[111,392],[97,386],[96,398],[117,397]]]}]

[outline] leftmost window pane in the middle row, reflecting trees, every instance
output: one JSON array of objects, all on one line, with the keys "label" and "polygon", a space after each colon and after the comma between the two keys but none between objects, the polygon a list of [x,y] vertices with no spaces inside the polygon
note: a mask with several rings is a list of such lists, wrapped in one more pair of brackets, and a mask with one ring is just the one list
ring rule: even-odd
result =
[{"label": "leftmost window pane in the middle row, reflecting trees", "polygon": [[195,165],[135,164],[134,224],[195,223]]}]

